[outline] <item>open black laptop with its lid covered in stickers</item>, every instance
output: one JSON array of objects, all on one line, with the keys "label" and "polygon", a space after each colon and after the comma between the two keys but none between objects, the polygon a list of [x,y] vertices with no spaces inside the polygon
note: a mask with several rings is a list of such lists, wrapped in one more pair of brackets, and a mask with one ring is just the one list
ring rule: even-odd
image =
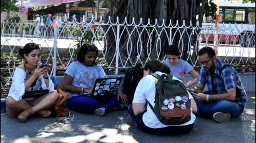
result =
[{"label": "open black laptop with its lid covered in stickers", "polygon": [[89,96],[98,101],[108,101],[112,96],[117,95],[121,84],[121,77],[115,78],[97,78],[91,93],[81,93],[81,96]]}]

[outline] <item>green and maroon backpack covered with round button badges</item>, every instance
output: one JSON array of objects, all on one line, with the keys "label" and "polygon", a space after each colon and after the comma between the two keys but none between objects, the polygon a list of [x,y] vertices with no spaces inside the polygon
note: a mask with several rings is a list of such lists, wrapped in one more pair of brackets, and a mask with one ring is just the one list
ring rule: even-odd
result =
[{"label": "green and maroon backpack covered with round button badges", "polygon": [[162,124],[179,125],[190,121],[190,99],[187,88],[179,80],[172,80],[172,75],[157,75],[155,81],[155,106],[147,101],[152,111]]}]

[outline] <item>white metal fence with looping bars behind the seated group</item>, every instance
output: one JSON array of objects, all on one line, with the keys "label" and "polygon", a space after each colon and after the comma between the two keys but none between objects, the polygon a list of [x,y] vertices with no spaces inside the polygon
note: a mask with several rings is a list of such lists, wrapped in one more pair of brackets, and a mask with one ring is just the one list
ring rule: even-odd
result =
[{"label": "white metal fence with looping bars behind the seated group", "polygon": [[[127,19],[121,21],[110,17],[77,22],[76,18],[67,21],[66,16],[64,21],[57,21],[54,28],[35,22],[3,22],[1,71],[7,73],[1,75],[1,89],[9,85],[17,66],[17,49],[28,42],[41,45],[45,53],[44,63],[51,65],[51,75],[55,76],[57,69],[66,69],[76,59],[77,44],[81,41],[95,44],[102,51],[99,63],[105,68],[115,68],[117,74],[119,68],[132,67],[136,63],[144,65],[151,59],[163,60],[164,47],[174,43],[179,44],[184,60],[195,67],[198,63],[197,51],[204,46],[213,47],[211,43],[217,37],[214,35],[214,24],[204,23],[200,27],[199,23],[192,22],[189,25],[173,21],[160,23],[155,20],[152,24],[150,19],[147,22],[142,19],[129,22]],[[255,62],[255,25],[219,24],[217,32],[219,58],[237,65]],[[63,53],[67,55],[66,58],[63,58]]]}]

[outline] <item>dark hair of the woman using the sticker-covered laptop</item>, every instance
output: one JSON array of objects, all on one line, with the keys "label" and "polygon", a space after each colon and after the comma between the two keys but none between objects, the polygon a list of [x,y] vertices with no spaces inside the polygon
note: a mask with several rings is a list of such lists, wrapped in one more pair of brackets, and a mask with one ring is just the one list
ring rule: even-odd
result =
[{"label": "dark hair of the woman using the sticker-covered laptop", "polygon": [[84,62],[84,57],[88,52],[96,52],[96,57],[94,61],[94,65],[96,65],[96,59],[98,57],[99,50],[95,45],[90,45],[90,44],[84,44],[80,47],[79,52],[77,53],[77,60],[81,63]]}]

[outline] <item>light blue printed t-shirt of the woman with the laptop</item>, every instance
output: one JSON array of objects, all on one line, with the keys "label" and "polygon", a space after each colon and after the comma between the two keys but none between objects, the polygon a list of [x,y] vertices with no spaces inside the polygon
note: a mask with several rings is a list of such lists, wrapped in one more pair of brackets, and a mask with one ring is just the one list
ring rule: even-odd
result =
[{"label": "light blue printed t-shirt of the woman with the laptop", "polygon": [[[106,73],[101,65],[86,66],[79,61],[72,62],[65,73],[73,78],[72,86],[82,88],[92,88],[97,78],[104,78]],[[77,96],[76,93],[70,93]]]}]

